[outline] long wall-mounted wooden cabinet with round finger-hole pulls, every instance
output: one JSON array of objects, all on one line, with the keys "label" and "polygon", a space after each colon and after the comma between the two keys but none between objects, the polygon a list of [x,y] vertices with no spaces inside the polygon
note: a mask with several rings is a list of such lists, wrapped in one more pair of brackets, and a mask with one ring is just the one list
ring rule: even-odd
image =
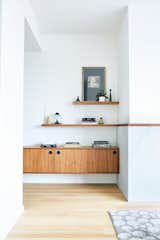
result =
[{"label": "long wall-mounted wooden cabinet with round finger-hole pulls", "polygon": [[118,173],[119,149],[24,148],[24,173]]}]

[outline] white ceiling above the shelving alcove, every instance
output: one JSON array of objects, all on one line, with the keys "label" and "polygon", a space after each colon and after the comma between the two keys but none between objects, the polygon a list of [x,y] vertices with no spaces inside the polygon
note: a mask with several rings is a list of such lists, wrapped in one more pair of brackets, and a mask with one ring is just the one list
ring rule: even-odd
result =
[{"label": "white ceiling above the shelving alcove", "polygon": [[118,31],[129,0],[29,0],[41,33],[98,34]]}]

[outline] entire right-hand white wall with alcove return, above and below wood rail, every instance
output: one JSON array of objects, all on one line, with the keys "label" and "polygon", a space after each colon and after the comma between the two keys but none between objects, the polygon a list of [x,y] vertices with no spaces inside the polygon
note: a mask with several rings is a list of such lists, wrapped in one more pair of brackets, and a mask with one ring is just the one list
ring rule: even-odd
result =
[{"label": "entire right-hand white wall with alcove return, above and below wood rail", "polygon": [[[120,122],[160,121],[159,10],[159,1],[132,1],[128,12],[128,39],[125,37],[127,25],[122,24],[119,83],[123,88],[118,87],[122,103]],[[125,102],[129,107],[123,105]],[[123,127],[118,130],[121,156],[118,183],[129,201],[160,200],[157,190],[160,182],[159,136],[159,127]]]}]

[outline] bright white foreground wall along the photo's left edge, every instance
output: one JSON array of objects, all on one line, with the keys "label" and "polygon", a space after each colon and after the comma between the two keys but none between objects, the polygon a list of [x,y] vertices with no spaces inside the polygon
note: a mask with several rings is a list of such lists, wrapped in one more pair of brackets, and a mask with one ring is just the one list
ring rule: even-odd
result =
[{"label": "bright white foreground wall along the photo's left edge", "polygon": [[23,210],[24,17],[21,0],[2,0],[0,46],[0,239]]}]

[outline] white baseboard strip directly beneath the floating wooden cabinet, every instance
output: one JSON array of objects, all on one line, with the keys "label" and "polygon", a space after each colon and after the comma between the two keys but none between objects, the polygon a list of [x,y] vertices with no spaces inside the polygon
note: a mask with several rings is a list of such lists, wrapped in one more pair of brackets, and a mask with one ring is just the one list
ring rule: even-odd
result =
[{"label": "white baseboard strip directly beneath the floating wooden cabinet", "polygon": [[24,183],[116,184],[117,174],[24,174]]}]

